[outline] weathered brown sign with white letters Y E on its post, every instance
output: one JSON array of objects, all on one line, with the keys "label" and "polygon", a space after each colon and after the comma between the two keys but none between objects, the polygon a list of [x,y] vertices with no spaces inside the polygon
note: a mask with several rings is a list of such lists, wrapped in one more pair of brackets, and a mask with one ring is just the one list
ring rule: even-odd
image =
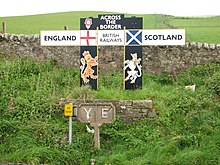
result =
[{"label": "weathered brown sign with white letters Y E on its post", "polygon": [[99,127],[115,119],[115,106],[111,103],[83,103],[79,105],[78,120],[94,127],[95,148],[100,149]]}]

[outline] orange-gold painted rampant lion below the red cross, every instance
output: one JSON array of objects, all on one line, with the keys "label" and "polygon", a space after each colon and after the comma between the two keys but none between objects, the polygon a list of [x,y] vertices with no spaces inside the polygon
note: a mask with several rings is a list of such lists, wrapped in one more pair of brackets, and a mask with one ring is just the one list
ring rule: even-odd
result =
[{"label": "orange-gold painted rampant lion below the red cross", "polygon": [[93,66],[98,65],[98,57],[96,56],[93,58],[89,51],[84,51],[82,55],[84,58],[80,59],[82,63],[80,66],[81,78],[83,79],[84,83],[89,83],[89,77],[92,79],[97,79],[98,77],[94,75],[95,71],[92,69]]}]

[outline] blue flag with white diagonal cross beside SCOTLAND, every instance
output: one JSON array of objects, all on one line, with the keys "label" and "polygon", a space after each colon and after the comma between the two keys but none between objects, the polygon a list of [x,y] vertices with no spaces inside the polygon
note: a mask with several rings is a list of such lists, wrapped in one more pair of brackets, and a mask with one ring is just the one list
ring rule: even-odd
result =
[{"label": "blue flag with white diagonal cross beside SCOTLAND", "polygon": [[142,30],[126,30],[126,45],[142,45]]}]

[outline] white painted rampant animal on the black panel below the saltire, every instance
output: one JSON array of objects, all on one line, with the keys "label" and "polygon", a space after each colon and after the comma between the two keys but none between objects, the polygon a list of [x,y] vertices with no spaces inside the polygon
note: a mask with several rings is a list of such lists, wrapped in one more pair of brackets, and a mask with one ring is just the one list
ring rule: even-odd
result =
[{"label": "white painted rampant animal on the black panel below the saltire", "polygon": [[[131,84],[134,84],[136,79],[138,77],[141,77],[142,73],[141,73],[141,58],[138,58],[137,59],[137,53],[131,53],[131,57],[132,59],[131,60],[126,60],[124,63],[125,63],[125,67],[124,67],[124,70],[126,70],[127,68],[129,68],[130,70],[127,71],[127,77],[125,78],[125,81],[127,80],[131,80]],[[138,70],[135,70],[135,69],[138,69]],[[139,72],[139,74],[138,74]]]}]

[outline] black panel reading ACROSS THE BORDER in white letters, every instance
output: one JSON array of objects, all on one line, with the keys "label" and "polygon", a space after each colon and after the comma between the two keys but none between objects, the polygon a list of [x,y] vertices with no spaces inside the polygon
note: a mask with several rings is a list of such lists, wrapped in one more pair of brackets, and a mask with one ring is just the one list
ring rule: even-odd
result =
[{"label": "black panel reading ACROSS THE BORDER in white letters", "polygon": [[124,14],[98,15],[99,30],[123,30],[125,25]]}]

